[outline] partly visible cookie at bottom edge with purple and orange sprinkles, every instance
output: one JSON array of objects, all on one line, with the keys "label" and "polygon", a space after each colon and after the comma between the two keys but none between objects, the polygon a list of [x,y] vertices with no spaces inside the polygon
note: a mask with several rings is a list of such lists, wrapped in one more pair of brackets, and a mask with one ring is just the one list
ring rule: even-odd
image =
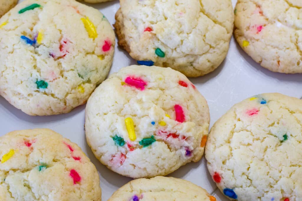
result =
[{"label": "partly visible cookie at bottom edge with purple and orange sprinkles", "polygon": [[183,179],[157,176],[135,179],[113,193],[108,201],[190,200],[216,201],[203,188]]}]

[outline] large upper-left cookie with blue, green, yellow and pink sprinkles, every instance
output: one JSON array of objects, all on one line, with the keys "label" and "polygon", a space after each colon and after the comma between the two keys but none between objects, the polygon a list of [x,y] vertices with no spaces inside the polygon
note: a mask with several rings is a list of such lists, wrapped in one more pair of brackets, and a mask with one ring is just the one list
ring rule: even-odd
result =
[{"label": "large upper-left cookie with blue, green, yellow and pink sprinkles", "polygon": [[115,36],[75,0],[26,0],[0,19],[0,95],[28,115],[84,104],[111,67]]}]

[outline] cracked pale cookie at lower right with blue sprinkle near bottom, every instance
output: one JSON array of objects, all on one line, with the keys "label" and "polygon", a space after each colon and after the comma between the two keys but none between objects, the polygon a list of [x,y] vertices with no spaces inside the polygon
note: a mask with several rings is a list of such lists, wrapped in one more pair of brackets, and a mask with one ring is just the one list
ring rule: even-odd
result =
[{"label": "cracked pale cookie at lower right with blue sprinkle near bottom", "polygon": [[302,100],[253,96],[211,128],[207,167],[221,192],[238,201],[302,200]]}]

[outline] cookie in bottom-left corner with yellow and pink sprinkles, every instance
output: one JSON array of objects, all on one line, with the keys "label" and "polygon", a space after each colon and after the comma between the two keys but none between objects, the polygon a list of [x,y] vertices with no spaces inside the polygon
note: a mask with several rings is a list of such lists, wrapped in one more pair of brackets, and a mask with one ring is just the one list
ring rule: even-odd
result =
[{"label": "cookie in bottom-left corner with yellow and pink sprinkles", "polygon": [[101,201],[98,172],[81,148],[49,129],[0,137],[0,200]]}]

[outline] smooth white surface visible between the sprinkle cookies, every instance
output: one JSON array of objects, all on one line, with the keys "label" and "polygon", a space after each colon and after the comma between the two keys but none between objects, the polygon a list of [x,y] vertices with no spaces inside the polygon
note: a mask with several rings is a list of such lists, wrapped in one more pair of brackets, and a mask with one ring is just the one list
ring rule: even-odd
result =
[{"label": "smooth white surface visible between the sprinkle cookies", "polygon": [[[236,0],[232,0],[232,2],[235,6]],[[117,0],[88,5],[99,9],[109,22],[114,24],[114,15],[119,8]],[[116,47],[110,73],[135,63],[136,61],[131,59],[127,52]],[[278,92],[297,98],[302,96],[301,74],[285,75],[262,68],[240,49],[234,39],[230,43],[227,58],[218,69],[204,77],[190,80],[208,101],[211,117],[210,126],[235,103],[255,94]],[[0,97],[0,136],[12,130],[50,128],[69,138],[82,148],[98,169],[102,200],[105,201],[115,190],[130,181],[130,178],[108,170],[95,158],[85,140],[84,114],[85,105],[82,105],[65,115],[31,117]],[[229,200],[217,190],[216,184],[207,171],[204,158],[200,162],[190,163],[179,168],[169,176],[191,181],[216,195],[217,200]]]}]

